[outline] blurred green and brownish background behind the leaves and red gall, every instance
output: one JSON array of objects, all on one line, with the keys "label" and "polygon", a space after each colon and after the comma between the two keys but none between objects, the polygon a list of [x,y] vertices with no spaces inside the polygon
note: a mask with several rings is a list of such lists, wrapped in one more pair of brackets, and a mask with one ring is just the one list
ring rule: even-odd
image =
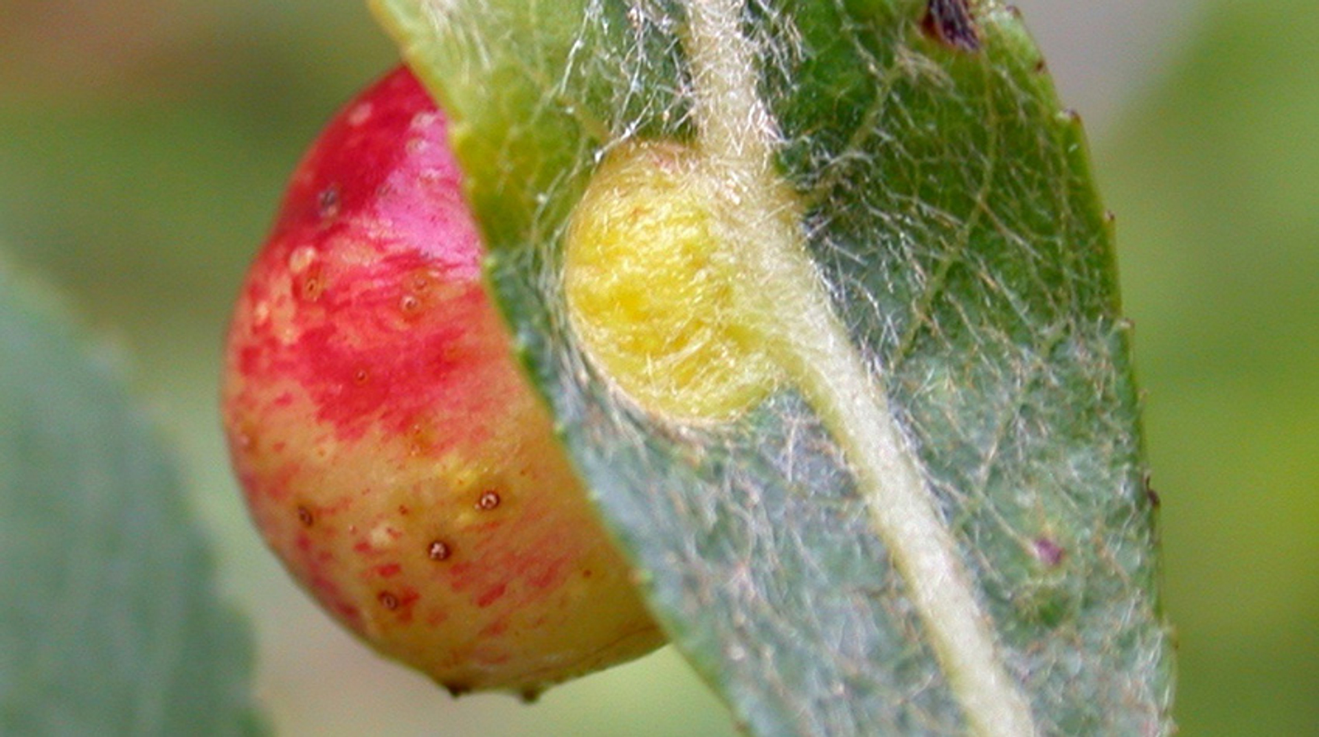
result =
[{"label": "blurred green and brownish background behind the leaves and red gall", "polygon": [[[1119,215],[1190,736],[1319,733],[1319,15],[1021,0]],[[665,650],[451,701],[335,629],[248,529],[220,336],[285,178],[394,63],[360,0],[0,0],[0,241],[132,356],[280,734],[732,734]]]}]

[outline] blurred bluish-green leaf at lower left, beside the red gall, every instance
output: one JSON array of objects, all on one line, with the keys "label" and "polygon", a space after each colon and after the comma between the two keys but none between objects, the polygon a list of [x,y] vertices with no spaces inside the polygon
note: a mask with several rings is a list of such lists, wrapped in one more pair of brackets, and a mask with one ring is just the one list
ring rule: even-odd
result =
[{"label": "blurred bluish-green leaf at lower left, beside the red gall", "polygon": [[0,270],[0,733],[259,733],[170,459],[29,291]]}]

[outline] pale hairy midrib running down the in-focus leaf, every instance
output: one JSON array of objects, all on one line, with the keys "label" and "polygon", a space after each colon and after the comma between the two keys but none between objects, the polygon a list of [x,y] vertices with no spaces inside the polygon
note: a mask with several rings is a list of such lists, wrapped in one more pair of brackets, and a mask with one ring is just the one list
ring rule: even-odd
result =
[{"label": "pale hairy midrib running down the in-focus leaf", "polygon": [[1029,700],[997,653],[958,545],[889,407],[882,378],[848,338],[810,262],[802,225],[783,218],[778,131],[758,92],[754,42],[739,0],[689,0],[698,148],[710,161],[723,236],[747,276],[758,326],[857,476],[871,523],[888,546],[971,729],[1035,734]]}]

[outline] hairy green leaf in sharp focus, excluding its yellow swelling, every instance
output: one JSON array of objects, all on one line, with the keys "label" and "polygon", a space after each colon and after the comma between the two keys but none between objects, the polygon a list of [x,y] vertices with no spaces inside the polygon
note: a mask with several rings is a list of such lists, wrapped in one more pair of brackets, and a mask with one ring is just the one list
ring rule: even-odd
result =
[{"label": "hairy green leaf in sharp focus, excluding its yellow swelling", "polygon": [[[1171,730],[1112,229],[1013,11],[376,7],[454,119],[568,452],[751,733]],[[654,138],[733,192],[712,206],[729,289],[786,376],[735,421],[640,409],[566,309],[574,208],[609,152]]]}]

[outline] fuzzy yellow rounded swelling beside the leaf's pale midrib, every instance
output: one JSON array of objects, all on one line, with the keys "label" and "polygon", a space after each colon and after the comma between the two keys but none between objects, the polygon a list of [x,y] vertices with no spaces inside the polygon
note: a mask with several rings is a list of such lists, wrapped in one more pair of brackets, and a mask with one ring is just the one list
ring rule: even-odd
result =
[{"label": "fuzzy yellow rounded swelling beside the leaf's pale midrib", "polygon": [[568,227],[565,290],[582,345],[666,419],[732,419],[778,376],[736,286],[718,202],[691,149],[632,144],[605,158]]}]

